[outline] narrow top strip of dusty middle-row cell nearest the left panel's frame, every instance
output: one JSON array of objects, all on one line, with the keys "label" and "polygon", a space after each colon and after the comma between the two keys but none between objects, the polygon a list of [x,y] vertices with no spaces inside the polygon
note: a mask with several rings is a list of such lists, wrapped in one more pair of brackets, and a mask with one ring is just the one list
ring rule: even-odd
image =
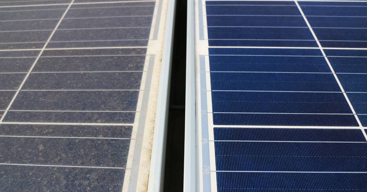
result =
[{"label": "narrow top strip of dusty middle-row cell nearest the left panel's frame", "polygon": [[[82,55],[145,55],[146,48],[106,48],[77,50],[45,50],[45,56],[82,56]],[[37,66],[37,65],[36,65]]]}]

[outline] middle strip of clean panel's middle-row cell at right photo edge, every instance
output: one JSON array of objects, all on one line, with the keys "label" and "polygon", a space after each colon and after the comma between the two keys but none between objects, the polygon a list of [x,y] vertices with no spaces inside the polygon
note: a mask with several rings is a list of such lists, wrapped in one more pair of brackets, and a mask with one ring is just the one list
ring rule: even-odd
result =
[{"label": "middle strip of clean panel's middle-row cell at right photo edge", "polygon": [[346,92],[367,92],[367,74],[338,74]]}]

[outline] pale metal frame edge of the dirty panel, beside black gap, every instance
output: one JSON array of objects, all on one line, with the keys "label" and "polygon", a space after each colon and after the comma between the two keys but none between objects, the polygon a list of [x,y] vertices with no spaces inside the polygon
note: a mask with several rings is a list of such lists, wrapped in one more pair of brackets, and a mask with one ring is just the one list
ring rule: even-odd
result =
[{"label": "pale metal frame edge of the dirty panel, beside black gap", "polygon": [[166,140],[168,106],[170,102],[170,79],[172,65],[172,44],[175,23],[176,0],[169,0],[167,7],[166,28],[164,31],[163,54],[159,79],[156,119],[154,125],[152,157],[148,192],[163,191],[164,164],[166,159]]}]

